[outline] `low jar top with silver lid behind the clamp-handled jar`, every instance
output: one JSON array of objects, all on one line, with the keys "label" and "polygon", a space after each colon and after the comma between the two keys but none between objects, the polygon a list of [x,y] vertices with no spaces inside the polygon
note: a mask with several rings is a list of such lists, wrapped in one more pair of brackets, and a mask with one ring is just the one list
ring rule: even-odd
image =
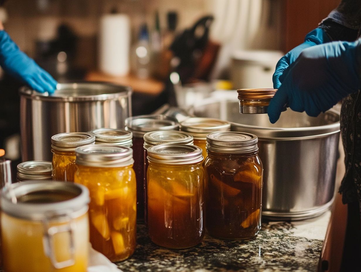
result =
[{"label": "low jar top with silver lid behind the clamp-handled jar", "polygon": [[17,166],[17,181],[51,180],[51,161],[25,161]]}]

